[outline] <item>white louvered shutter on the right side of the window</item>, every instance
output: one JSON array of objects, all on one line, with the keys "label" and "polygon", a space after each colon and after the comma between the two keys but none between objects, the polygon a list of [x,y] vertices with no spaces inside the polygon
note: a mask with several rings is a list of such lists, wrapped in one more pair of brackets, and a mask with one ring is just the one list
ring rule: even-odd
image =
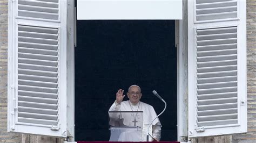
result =
[{"label": "white louvered shutter on the right side of the window", "polygon": [[246,2],[188,1],[188,136],[247,131]]}]

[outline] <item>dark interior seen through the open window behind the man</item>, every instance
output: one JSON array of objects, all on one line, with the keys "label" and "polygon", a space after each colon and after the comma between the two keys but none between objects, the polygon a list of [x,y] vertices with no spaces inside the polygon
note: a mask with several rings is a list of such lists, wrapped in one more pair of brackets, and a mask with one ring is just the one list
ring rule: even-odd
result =
[{"label": "dark interior seen through the open window behind the man", "polygon": [[[161,141],[177,140],[177,49],[174,20],[77,20],[75,140],[107,141],[116,92],[132,84],[162,116]],[[125,97],[127,100],[127,97]]]}]

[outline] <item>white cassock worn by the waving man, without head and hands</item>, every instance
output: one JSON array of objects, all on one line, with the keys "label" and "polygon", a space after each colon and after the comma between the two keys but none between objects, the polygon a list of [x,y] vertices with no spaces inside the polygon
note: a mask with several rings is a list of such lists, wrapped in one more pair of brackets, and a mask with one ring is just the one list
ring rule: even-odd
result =
[{"label": "white cassock worn by the waving man, without head and hands", "polygon": [[[121,104],[114,102],[110,107],[109,111],[143,111],[142,134],[138,134],[138,132],[134,131],[123,132],[119,135],[119,137],[115,137],[116,135],[111,134],[110,141],[146,141],[147,127],[149,126],[151,121],[157,117],[157,113],[156,111],[154,111],[153,106],[143,102],[139,102],[135,105],[132,104],[130,101],[123,101]],[[134,126],[134,115],[132,114],[123,114],[123,116],[120,117],[116,114],[109,113],[109,116],[109,124],[111,126],[115,126],[117,118],[122,118],[123,124],[125,126]],[[139,114],[136,115],[136,118],[140,118]],[[161,124],[158,118],[153,121],[152,126],[150,126],[149,133],[152,135],[153,138],[160,140]],[[151,141],[150,137],[149,140]]]}]

